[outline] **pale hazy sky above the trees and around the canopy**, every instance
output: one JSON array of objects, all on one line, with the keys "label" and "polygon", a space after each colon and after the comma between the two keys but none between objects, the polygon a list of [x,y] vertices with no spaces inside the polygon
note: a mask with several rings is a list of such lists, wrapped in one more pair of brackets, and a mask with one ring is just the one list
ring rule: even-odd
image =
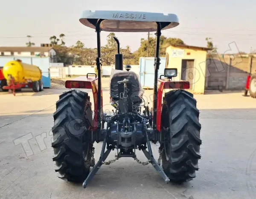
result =
[{"label": "pale hazy sky above the trees and around the canopy", "polygon": [[[186,44],[206,46],[212,37],[220,53],[236,42],[239,51],[256,49],[256,0],[0,0],[0,46],[25,46],[32,35],[36,46],[52,35],[65,34],[67,46],[81,40],[96,47],[96,33],[83,26],[83,10],[124,10],[177,14],[180,25],[163,31]],[[102,45],[108,32],[102,32]],[[121,47],[135,51],[147,33],[116,33]]]}]

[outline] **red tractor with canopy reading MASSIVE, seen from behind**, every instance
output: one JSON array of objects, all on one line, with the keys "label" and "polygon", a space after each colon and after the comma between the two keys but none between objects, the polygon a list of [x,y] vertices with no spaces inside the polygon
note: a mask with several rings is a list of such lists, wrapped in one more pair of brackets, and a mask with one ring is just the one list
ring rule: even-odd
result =
[{"label": "red tractor with canopy reading MASSIVE, seen from behind", "polygon": [[[175,14],[125,11],[84,11],[80,22],[96,30],[96,74],[87,74],[65,82],[70,90],[59,96],[52,127],[53,161],[58,177],[87,187],[103,164],[120,158],[137,159],[142,151],[164,182],[183,183],[195,178],[200,156],[199,110],[188,81],[174,81],[177,69],[166,68],[158,75],[162,30],[179,25]],[[116,54],[111,73],[110,98],[115,111],[107,115],[102,106],[102,61],[100,33],[156,32],[154,89],[152,107],[143,102],[143,89],[135,72],[123,70],[122,54]],[[93,77],[92,77],[93,76]],[[163,77],[164,76],[164,77]],[[87,92],[92,89],[94,111]],[[169,89],[163,96],[163,90]],[[94,143],[102,143],[99,160],[94,159]],[[151,143],[159,143],[159,158],[153,156]],[[105,162],[111,150],[114,160]],[[142,164],[144,164],[142,163]],[[161,165],[162,163],[162,165]],[[90,170],[90,167],[91,170]]]}]

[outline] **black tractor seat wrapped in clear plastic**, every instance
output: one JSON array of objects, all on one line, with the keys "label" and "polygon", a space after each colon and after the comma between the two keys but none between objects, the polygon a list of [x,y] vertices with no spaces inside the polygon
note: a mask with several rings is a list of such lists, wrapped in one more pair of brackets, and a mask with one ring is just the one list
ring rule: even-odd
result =
[{"label": "black tractor seat wrapped in clear plastic", "polygon": [[[132,71],[118,71],[112,75],[111,85],[110,85],[110,95],[114,101],[120,99],[120,93],[124,92],[124,84],[118,84],[118,81],[128,79],[128,101],[133,103],[138,103],[142,101],[140,96],[143,94],[143,89],[141,88],[140,80],[135,72]],[[122,97],[122,95],[121,95]]]}]

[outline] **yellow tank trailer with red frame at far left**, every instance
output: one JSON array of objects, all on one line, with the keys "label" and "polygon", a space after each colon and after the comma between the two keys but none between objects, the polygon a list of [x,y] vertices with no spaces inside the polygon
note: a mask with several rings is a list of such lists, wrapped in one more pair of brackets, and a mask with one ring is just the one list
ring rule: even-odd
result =
[{"label": "yellow tank trailer with red frame at far left", "polygon": [[41,81],[42,72],[38,66],[22,63],[22,61],[9,61],[3,66],[3,76],[7,81],[4,89],[21,89],[26,85],[32,88],[34,92],[44,89]]}]

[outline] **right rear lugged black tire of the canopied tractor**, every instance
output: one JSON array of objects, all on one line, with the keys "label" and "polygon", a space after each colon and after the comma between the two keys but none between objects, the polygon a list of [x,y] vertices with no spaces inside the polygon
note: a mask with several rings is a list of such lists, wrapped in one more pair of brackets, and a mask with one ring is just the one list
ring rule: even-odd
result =
[{"label": "right rear lugged black tire of the canopied tractor", "polygon": [[162,153],[163,170],[173,182],[182,183],[195,178],[201,124],[193,94],[185,90],[172,90],[165,94],[162,124],[165,133]]}]

